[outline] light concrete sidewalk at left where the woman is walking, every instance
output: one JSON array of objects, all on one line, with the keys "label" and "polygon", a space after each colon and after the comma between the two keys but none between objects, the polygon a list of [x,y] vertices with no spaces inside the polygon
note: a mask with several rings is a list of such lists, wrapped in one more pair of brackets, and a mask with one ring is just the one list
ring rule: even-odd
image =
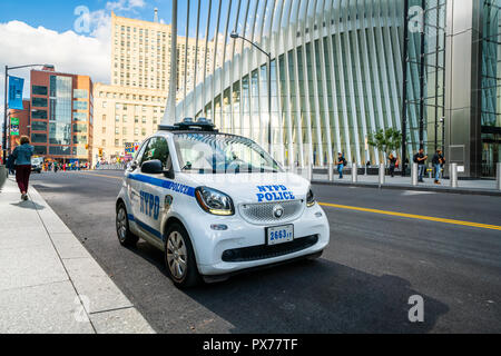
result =
[{"label": "light concrete sidewalk at left where the woman is walking", "polygon": [[154,333],[38,191],[0,190],[0,334]]}]

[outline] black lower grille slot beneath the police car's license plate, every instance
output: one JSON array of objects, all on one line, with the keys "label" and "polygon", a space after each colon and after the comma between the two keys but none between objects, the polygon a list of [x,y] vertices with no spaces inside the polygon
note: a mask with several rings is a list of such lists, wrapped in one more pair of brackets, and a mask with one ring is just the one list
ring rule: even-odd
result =
[{"label": "black lower grille slot beneath the police car's license plate", "polygon": [[310,235],[296,238],[291,243],[284,243],[278,245],[258,245],[258,246],[227,249],[223,253],[222,259],[225,263],[243,263],[265,258],[273,258],[301,251],[303,249],[312,247],[317,241],[318,235]]}]

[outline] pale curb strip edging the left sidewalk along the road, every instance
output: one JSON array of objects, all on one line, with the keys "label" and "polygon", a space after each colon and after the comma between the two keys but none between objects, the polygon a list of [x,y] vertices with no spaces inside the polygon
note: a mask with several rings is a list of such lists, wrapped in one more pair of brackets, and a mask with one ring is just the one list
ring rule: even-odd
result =
[{"label": "pale curb strip edging the left sidewalk along the road", "polygon": [[[9,180],[14,184],[11,178],[8,178]],[[149,323],[115,285],[37,189],[30,186],[28,196],[40,219],[39,224],[50,240],[49,246],[51,245],[50,247],[55,249],[63,273],[75,290],[76,300],[71,304],[76,308],[73,314],[76,319],[79,318],[77,324],[89,325],[92,334],[155,334]],[[47,320],[47,324],[50,324],[50,320]],[[80,330],[78,327],[77,329]],[[88,328],[82,329],[89,332]],[[30,332],[38,333],[37,330]]]}]

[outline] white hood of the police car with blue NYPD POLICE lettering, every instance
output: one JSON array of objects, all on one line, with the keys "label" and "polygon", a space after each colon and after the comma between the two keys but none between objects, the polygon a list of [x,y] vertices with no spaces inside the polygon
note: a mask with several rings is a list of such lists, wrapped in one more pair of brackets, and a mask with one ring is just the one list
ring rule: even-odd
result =
[{"label": "white hood of the police car with blue NYPD POLICE lettering", "polygon": [[[234,204],[305,199],[310,181],[291,172],[278,174],[185,174],[179,180],[189,186],[208,187],[227,194]],[[177,180],[177,177],[176,177]]]}]

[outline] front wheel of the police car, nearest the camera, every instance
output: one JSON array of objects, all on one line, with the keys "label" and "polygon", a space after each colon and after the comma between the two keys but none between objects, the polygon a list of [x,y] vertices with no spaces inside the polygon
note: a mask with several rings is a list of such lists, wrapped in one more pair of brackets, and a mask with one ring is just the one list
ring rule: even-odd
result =
[{"label": "front wheel of the police car, nearest the camera", "polygon": [[193,245],[184,226],[173,224],[167,229],[164,259],[176,287],[189,288],[200,283]]}]

